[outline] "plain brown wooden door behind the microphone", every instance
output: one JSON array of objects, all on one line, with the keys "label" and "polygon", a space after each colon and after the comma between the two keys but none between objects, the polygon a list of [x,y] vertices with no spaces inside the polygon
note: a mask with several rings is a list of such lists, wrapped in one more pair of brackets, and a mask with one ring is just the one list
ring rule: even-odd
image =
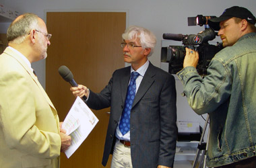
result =
[{"label": "plain brown wooden door behind the microphone", "polygon": [[[107,85],[115,69],[125,67],[121,35],[125,30],[125,12],[47,12],[46,25],[53,34],[46,58],[46,92],[61,121],[75,97],[58,69],[66,65],[78,84],[99,92]],[[79,149],[67,159],[61,154],[61,168],[103,167],[101,165],[110,109],[92,110],[99,119]],[[110,167],[111,157],[108,159]]]}]

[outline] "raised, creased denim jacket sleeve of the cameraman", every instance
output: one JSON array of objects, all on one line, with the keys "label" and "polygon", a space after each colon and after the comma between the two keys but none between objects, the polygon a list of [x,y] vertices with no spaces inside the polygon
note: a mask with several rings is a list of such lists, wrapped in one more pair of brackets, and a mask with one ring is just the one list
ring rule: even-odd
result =
[{"label": "raised, creased denim jacket sleeve of the cameraman", "polygon": [[186,67],[177,75],[184,85],[189,106],[197,114],[214,112],[230,97],[232,78],[220,59],[212,59],[204,80],[194,67]]}]

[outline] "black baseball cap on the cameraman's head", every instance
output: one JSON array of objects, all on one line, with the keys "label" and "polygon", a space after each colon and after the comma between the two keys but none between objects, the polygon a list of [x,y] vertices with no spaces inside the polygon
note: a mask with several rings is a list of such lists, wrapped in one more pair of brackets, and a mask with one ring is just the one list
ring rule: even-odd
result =
[{"label": "black baseball cap on the cameraman's head", "polygon": [[213,28],[214,30],[220,30],[220,22],[230,19],[231,17],[246,19],[247,22],[253,25],[256,22],[256,18],[253,15],[253,13],[251,13],[251,11],[249,11],[245,7],[234,6],[234,7],[225,9],[225,11],[222,13],[222,15],[220,15],[220,17],[209,19],[208,24],[210,28]]}]

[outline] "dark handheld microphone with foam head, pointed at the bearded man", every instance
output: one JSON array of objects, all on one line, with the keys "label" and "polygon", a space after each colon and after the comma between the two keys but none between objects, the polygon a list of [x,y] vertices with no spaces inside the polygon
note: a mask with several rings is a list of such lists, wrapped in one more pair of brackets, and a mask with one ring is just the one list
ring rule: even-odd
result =
[{"label": "dark handheld microphone with foam head, pointed at the bearded man", "polygon": [[[59,75],[61,75],[61,77],[63,77],[65,81],[69,82],[71,86],[73,87],[78,86],[75,80],[73,79],[73,73],[71,73],[71,71],[65,65],[62,65],[61,67],[59,67]],[[87,99],[86,95],[84,95],[82,99],[86,101]]]}]

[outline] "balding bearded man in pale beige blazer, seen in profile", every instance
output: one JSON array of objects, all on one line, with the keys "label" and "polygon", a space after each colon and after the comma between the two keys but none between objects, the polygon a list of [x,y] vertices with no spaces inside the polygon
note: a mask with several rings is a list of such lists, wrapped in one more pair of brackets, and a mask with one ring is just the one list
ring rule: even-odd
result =
[{"label": "balding bearded man in pale beige blazer, seen in profile", "polygon": [[7,30],[9,46],[0,55],[0,167],[59,167],[60,152],[71,144],[31,67],[46,58],[50,38],[32,13]]}]

